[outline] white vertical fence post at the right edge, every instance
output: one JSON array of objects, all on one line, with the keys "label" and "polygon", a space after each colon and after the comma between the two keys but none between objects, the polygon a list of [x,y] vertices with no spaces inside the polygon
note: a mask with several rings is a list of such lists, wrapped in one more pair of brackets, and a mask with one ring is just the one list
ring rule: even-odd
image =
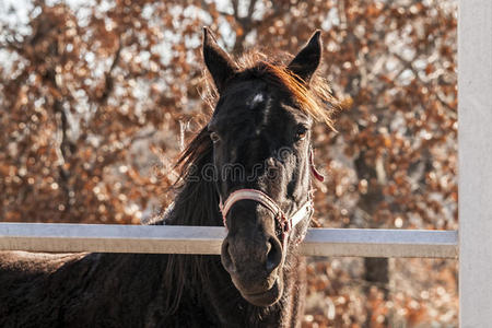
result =
[{"label": "white vertical fence post at the right edge", "polygon": [[492,1],[459,0],[460,327],[492,327]]}]

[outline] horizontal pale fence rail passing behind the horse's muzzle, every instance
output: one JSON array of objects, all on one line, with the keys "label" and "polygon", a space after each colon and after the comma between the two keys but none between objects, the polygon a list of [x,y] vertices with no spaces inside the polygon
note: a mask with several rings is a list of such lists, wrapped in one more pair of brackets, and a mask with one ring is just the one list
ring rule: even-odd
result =
[{"label": "horizontal pale fence rail passing behind the horse's muzzle", "polygon": [[[219,226],[0,223],[1,250],[220,254]],[[456,231],[311,229],[307,256],[457,258]]]}]

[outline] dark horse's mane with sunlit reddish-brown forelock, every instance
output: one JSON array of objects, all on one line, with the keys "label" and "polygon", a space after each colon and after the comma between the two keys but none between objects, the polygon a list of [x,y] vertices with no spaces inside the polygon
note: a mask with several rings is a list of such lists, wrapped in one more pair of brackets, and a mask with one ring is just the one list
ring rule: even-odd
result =
[{"label": "dark horse's mane with sunlit reddish-brown forelock", "polygon": [[[269,58],[276,58],[276,61]],[[280,58],[280,60],[279,60]],[[289,61],[288,61],[289,60]],[[286,69],[284,62],[290,62],[292,56],[266,56],[260,51],[250,51],[236,60],[239,68],[239,79],[261,79],[274,84],[281,91],[291,95],[301,110],[317,121],[332,127],[330,114],[338,107],[327,81],[319,75],[311,79],[308,86]],[[206,73],[203,98],[213,108],[219,95],[213,87],[213,80]],[[222,225],[219,211],[219,197],[214,183],[203,179],[201,174],[206,165],[212,163],[213,143],[210,140],[207,126],[195,136],[183,151],[176,167],[179,178],[175,184],[176,199],[173,208],[166,211],[166,216],[155,224],[169,225]],[[164,289],[167,295],[164,300],[166,314],[172,315],[179,306],[185,290],[192,291],[191,283],[200,285],[207,281],[207,263],[220,258],[201,255],[169,255],[164,278]],[[189,289],[187,289],[187,286]],[[197,289],[199,290],[199,289]]]}]

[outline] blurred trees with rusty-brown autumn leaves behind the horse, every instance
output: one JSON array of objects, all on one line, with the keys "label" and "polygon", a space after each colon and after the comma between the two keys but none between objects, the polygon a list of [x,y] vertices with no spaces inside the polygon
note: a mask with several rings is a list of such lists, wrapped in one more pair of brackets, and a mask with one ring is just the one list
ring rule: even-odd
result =
[{"label": "blurred trees with rusty-brown autumn leaves behind the horse", "polygon": [[[324,30],[320,73],[347,110],[338,132],[315,127],[328,180],[315,195],[319,224],[457,227],[455,1],[30,5],[26,24],[5,19],[15,8],[0,13],[0,220],[138,223],[165,206],[173,160],[211,110],[201,99],[209,25],[234,55],[294,52]],[[391,283],[415,277],[400,262],[391,271],[386,259],[313,260],[309,300],[330,301],[312,303],[305,325],[391,326],[399,312],[388,304],[405,307],[411,325],[431,313],[457,325],[456,297],[429,305],[432,293],[456,296],[456,265],[413,265],[433,272],[419,282],[433,282],[429,293],[389,297]],[[344,294],[354,279],[367,281],[365,296]]]}]

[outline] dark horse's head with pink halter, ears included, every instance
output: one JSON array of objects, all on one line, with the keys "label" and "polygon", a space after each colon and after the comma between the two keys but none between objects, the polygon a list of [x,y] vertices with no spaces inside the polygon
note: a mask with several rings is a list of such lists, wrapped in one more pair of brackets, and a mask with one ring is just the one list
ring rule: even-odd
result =
[{"label": "dark horse's head with pink halter, ears included", "polygon": [[222,263],[248,302],[283,292],[286,254],[312,214],[311,127],[328,119],[309,90],[321,57],[319,32],[286,66],[239,68],[204,30],[203,58],[220,98],[208,132],[224,225]]}]

